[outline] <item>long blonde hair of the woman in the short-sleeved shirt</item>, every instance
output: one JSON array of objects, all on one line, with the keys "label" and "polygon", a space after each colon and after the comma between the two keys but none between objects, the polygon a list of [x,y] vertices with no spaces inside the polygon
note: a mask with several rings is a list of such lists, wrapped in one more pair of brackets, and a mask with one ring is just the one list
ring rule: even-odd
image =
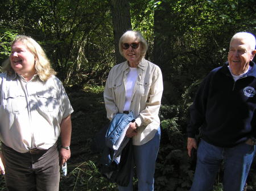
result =
[{"label": "long blonde hair of the woman in the short-sleeved shirt", "polygon": [[[17,35],[13,43],[11,43],[11,47],[16,42],[26,45],[28,50],[35,56],[35,70],[40,80],[47,81],[49,77],[56,74],[55,70],[51,68],[43,48],[34,39],[29,36]],[[11,68],[10,58],[3,63],[3,71],[9,74],[15,73],[13,68]]]}]

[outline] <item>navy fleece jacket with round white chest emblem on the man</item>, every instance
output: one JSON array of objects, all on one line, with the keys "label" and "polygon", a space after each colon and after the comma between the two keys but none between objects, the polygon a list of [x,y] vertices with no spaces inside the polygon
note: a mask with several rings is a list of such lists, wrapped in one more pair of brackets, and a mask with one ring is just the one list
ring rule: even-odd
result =
[{"label": "navy fleece jacket with round white chest emblem on the man", "polygon": [[233,80],[228,64],[213,69],[201,83],[191,106],[189,138],[201,138],[218,147],[233,147],[255,137],[256,65]]}]

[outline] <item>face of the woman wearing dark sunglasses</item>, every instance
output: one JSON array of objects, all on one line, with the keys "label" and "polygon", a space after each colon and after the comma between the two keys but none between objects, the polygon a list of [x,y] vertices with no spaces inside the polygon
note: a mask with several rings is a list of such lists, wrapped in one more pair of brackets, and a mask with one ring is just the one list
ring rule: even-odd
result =
[{"label": "face of the woman wearing dark sunglasses", "polygon": [[122,48],[123,56],[129,62],[129,65],[138,65],[141,61],[141,43],[135,38],[126,39],[122,43]]}]

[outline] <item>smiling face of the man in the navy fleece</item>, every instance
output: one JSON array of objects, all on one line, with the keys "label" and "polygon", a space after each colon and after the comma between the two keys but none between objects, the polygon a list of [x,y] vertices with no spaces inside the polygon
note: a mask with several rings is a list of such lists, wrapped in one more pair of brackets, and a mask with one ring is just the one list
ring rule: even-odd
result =
[{"label": "smiling face of the man in the navy fleece", "polygon": [[230,42],[228,62],[233,74],[240,75],[245,73],[253,57],[254,52],[250,49],[248,40],[233,39]]}]

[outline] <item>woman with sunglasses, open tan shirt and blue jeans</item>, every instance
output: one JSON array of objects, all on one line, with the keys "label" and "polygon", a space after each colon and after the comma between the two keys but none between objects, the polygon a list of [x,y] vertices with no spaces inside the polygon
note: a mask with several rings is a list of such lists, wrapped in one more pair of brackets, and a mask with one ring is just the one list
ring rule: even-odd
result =
[{"label": "woman with sunglasses, open tan shirt and blue jeans", "polygon": [[[138,190],[154,190],[155,161],[160,143],[158,117],[163,93],[160,68],[144,59],[147,43],[140,32],[127,31],[119,40],[119,52],[126,61],[115,65],[109,73],[104,90],[107,117],[133,111],[135,122],[130,123],[126,136],[133,139],[134,164]],[[128,186],[133,190],[133,172]]]}]

